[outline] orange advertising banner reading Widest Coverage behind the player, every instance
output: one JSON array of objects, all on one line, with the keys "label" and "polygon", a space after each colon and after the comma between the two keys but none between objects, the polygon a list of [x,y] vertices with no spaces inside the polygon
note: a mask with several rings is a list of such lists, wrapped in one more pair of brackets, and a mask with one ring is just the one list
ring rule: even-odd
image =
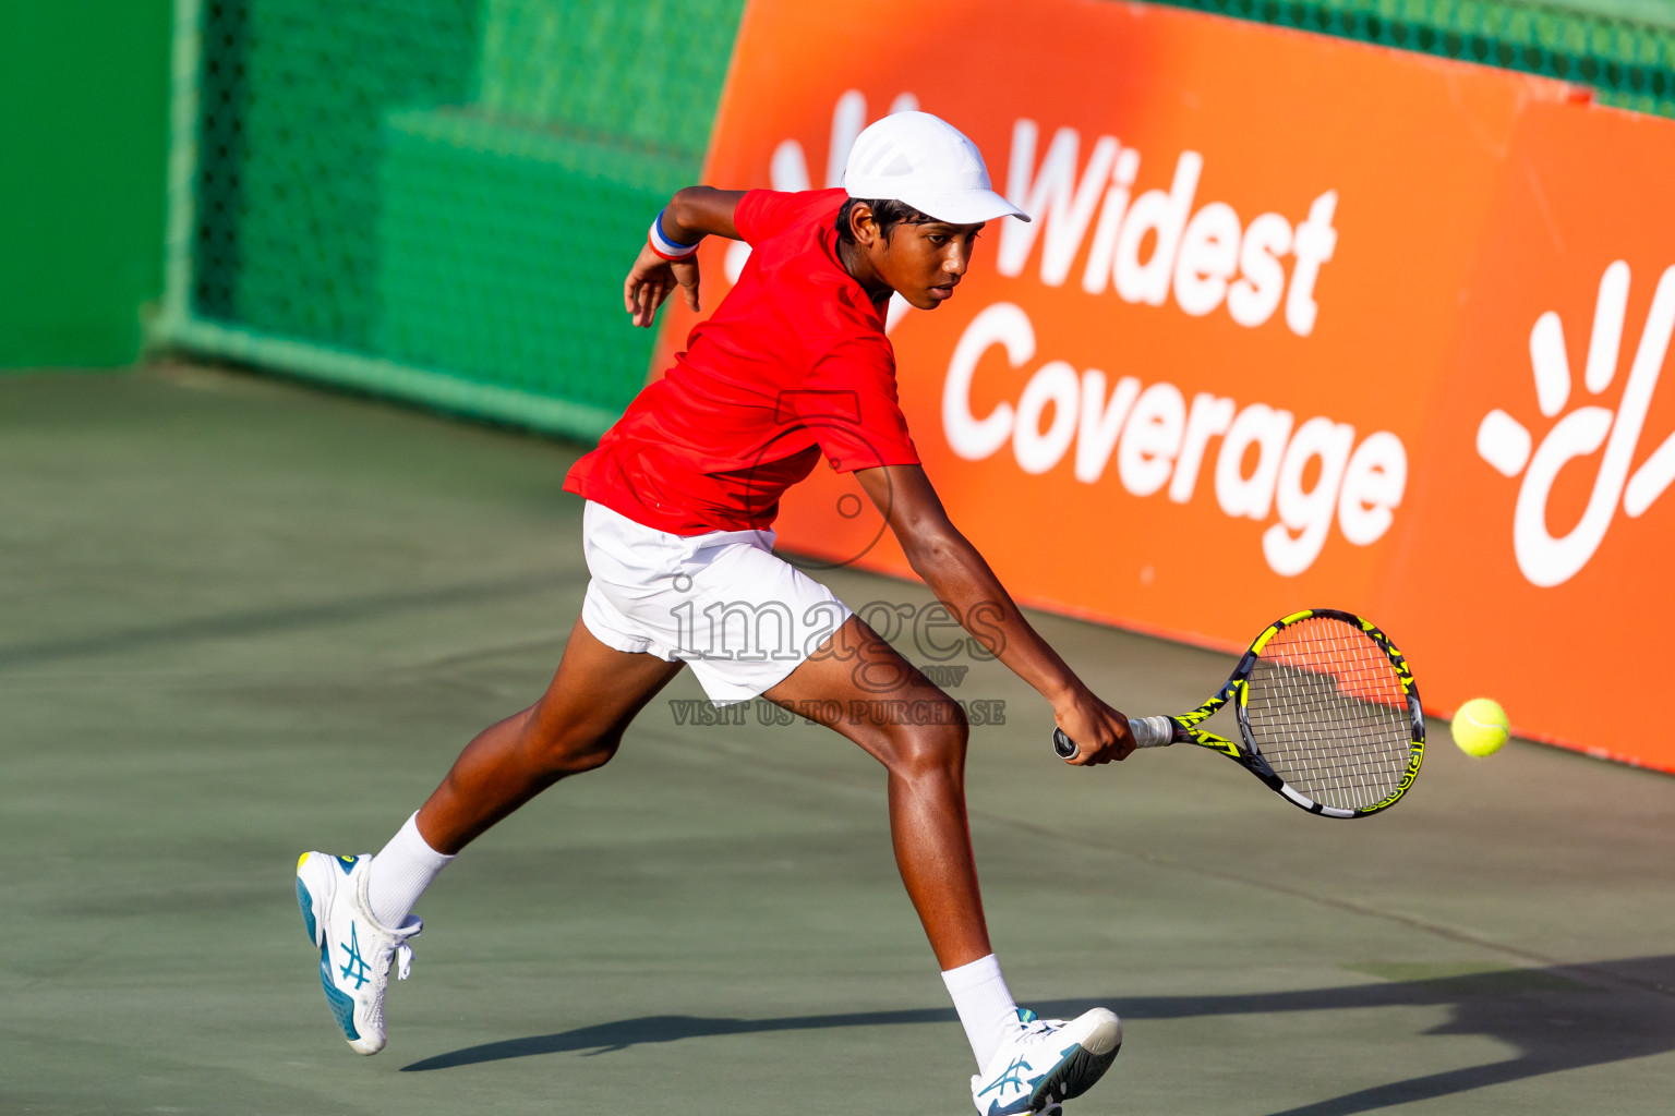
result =
[{"label": "orange advertising banner reading Widest Coverage behind the player", "polygon": [[[1164,7],[752,0],[705,181],[838,184],[903,107],[1035,216],[889,315],[925,467],[1022,601],[1229,649],[1352,609],[1435,713],[1675,770],[1601,713],[1675,676],[1675,122]],[[747,254],[705,244],[707,306]],[[856,492],[816,470],[781,545],[908,574]]]}]

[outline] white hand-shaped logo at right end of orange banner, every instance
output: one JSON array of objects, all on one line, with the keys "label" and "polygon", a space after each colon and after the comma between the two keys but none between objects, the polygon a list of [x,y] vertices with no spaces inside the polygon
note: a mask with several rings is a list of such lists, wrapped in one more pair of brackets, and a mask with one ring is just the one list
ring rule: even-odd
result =
[{"label": "white hand-shaped logo at right end of orange banner", "polygon": [[[1583,385],[1590,395],[1601,395],[1616,378],[1623,315],[1628,308],[1628,264],[1621,259],[1608,266],[1600,278],[1593,336],[1588,341],[1588,366],[1583,373]],[[1524,474],[1518,489],[1518,507],[1513,512],[1513,554],[1518,557],[1518,569],[1533,586],[1559,586],[1574,577],[1605,540],[1611,520],[1616,519],[1618,502],[1630,519],[1638,519],[1675,482],[1675,433],[1640,463],[1633,477],[1628,475],[1628,467],[1640,448],[1647,410],[1658,387],[1672,333],[1675,333],[1675,268],[1665,271],[1658,281],[1652,313],[1647,315],[1640,348],[1615,413],[1608,407],[1578,407],[1553,423],[1541,445],[1534,447],[1534,453],[1524,423],[1501,408],[1482,417],[1477,427],[1477,455],[1504,477]],[[1564,348],[1564,326],[1551,310],[1536,318],[1529,331],[1529,363],[1536,378],[1536,405],[1543,417],[1559,417],[1571,395],[1571,366]],[[1601,445],[1605,455],[1586,510],[1569,534],[1553,537],[1548,530],[1548,497],[1553,494],[1553,482],[1573,458],[1595,453]]]}]

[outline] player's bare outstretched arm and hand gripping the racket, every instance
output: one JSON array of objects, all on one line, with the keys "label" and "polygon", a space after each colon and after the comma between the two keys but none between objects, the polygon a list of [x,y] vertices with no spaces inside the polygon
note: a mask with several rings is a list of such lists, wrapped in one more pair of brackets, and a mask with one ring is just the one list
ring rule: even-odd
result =
[{"label": "player's bare outstretched arm and hand gripping the racket", "polygon": [[936,599],[1018,678],[1052,704],[1082,750],[1069,763],[1124,760],[1134,751],[1129,721],[1100,701],[1018,611],[995,571],[950,522],[920,465],[858,468],[856,480],[884,514],[908,562]]}]

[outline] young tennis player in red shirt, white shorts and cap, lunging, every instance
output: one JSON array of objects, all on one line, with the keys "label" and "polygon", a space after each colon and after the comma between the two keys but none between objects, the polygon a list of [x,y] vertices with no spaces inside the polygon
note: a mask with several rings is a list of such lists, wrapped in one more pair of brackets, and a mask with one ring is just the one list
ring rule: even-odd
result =
[{"label": "young tennis player in red shirt, white shorts and cap, lunging", "polygon": [[[412,909],[430,880],[558,780],[610,761],[635,714],[690,666],[714,703],[764,696],[814,714],[888,771],[896,862],[977,1057],[978,1113],[1055,1111],[1111,1066],[1122,1034],[1112,1012],[1044,1021],[1007,991],[972,862],[960,706],[772,552],[779,495],[824,455],[854,474],[955,617],[1052,704],[1082,745],[1070,763],[1134,748],[1124,716],[1040,639],[948,522],[896,402],[891,293],[941,306],[978,229],[1005,216],[1028,221],[990,189],[972,141],[925,112],[861,132],[841,189],[693,186],[658,214],[623,288],[638,326],[677,286],[698,308],[693,253],[705,236],[742,239],[752,254],[668,375],[564,482],[586,499],[591,582],[558,674],[466,746],[377,857],[298,862],[320,980],[355,1051],[384,1047],[389,972],[409,974],[422,925]],[[851,701],[896,716],[853,718]]]}]

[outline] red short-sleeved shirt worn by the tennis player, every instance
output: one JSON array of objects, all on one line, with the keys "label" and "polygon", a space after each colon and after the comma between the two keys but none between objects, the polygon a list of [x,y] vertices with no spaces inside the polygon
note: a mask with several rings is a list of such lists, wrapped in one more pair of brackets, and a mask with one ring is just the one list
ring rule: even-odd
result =
[{"label": "red short-sleeved shirt worn by the tennis player", "polygon": [[841,189],[750,191],[739,283],[564,477],[564,489],[678,535],[765,529],[821,453],[839,472],[918,465],[896,353],[838,259]]}]

